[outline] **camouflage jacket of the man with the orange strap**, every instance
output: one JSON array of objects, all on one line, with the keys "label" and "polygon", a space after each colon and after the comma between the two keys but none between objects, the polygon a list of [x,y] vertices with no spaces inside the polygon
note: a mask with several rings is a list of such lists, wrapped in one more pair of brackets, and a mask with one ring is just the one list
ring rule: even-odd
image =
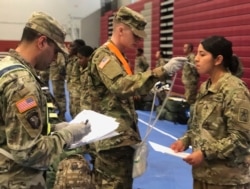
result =
[{"label": "camouflage jacket of the man with the orange strap", "polygon": [[[96,143],[97,150],[129,146],[140,141],[134,95],[147,94],[158,81],[151,71],[127,75],[122,63],[106,46],[89,61],[89,90],[92,110],[116,118],[119,136]],[[105,127],[105,123],[100,128]]]}]

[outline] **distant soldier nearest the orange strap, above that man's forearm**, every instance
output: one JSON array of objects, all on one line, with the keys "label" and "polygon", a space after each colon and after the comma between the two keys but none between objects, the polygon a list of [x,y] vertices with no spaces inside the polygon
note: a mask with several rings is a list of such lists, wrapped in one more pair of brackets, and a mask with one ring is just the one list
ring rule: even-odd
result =
[{"label": "distant soldier nearest the orange strap, above that man's forearm", "polygon": [[137,49],[135,57],[135,73],[147,71],[149,64],[146,57],[144,56],[144,50],[142,48]]}]

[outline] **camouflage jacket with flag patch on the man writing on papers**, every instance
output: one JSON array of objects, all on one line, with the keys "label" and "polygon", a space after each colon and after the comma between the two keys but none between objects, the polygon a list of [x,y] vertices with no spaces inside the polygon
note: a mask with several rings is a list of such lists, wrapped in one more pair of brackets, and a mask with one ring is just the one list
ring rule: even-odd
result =
[{"label": "camouflage jacket with flag patch on the man writing on papers", "polygon": [[44,180],[38,175],[62,152],[62,138],[70,136],[43,135],[46,97],[35,70],[14,50],[1,60],[0,73],[0,148],[12,156],[0,153],[0,185],[40,185]]}]

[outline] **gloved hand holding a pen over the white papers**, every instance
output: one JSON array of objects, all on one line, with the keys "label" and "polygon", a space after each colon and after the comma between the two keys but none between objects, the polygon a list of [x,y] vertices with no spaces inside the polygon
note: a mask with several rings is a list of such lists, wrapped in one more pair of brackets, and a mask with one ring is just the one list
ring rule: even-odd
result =
[{"label": "gloved hand holding a pen over the white papers", "polygon": [[84,136],[89,134],[89,132],[91,131],[91,125],[90,123],[85,124],[84,122],[71,123],[62,130],[67,130],[71,133],[72,135],[71,141],[66,141],[67,146],[70,146],[71,144],[78,142]]}]

